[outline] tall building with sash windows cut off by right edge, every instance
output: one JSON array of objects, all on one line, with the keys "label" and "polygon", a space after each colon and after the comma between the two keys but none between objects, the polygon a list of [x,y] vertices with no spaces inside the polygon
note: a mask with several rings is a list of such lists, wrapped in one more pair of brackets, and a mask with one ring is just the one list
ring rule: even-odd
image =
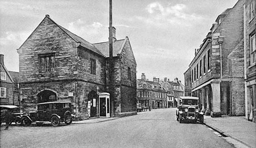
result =
[{"label": "tall building with sash windows cut off by right edge", "polygon": [[255,0],[244,3],[245,118],[256,122],[256,17]]}]

